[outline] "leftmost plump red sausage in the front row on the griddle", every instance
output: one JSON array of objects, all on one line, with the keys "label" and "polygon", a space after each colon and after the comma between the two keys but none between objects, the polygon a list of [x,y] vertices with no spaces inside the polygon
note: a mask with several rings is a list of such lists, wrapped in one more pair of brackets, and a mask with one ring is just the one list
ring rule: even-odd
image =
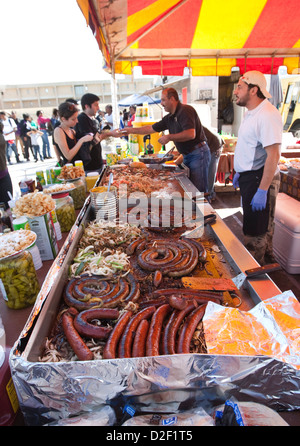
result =
[{"label": "leftmost plump red sausage in the front row on the griddle", "polygon": [[73,316],[66,311],[62,315],[62,326],[67,341],[80,361],[90,361],[94,359],[93,352],[87,347],[78,331],[74,327]]}]

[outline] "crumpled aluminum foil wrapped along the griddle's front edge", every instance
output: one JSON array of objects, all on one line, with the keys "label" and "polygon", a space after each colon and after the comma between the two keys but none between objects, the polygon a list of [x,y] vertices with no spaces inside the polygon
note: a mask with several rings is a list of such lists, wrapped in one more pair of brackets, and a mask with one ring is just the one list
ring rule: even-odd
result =
[{"label": "crumpled aluminum foil wrapped along the griddle's front edge", "polygon": [[274,410],[300,408],[300,375],[269,357],[170,355],[140,359],[30,363],[10,358],[26,424],[35,426],[128,402],[142,412],[201,406],[207,413],[229,397]]}]

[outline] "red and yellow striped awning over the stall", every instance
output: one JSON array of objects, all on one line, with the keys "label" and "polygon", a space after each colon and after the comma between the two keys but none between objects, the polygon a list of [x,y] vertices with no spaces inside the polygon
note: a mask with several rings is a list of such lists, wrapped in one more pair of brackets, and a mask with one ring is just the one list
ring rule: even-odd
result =
[{"label": "red and yellow striped awning over the stall", "polygon": [[300,68],[299,0],[77,0],[109,72],[229,76]]}]

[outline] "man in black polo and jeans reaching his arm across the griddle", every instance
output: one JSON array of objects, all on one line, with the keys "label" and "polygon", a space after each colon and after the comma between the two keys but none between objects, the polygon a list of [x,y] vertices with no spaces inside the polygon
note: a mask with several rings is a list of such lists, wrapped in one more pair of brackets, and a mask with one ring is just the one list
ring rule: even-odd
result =
[{"label": "man in black polo and jeans reaching his arm across the griddle", "polygon": [[[174,88],[162,91],[161,105],[168,112],[161,121],[142,127],[127,127],[127,134],[147,135],[169,130],[158,142],[162,145],[173,141],[190,170],[190,180],[200,192],[208,190],[208,166],[211,155],[199,116],[194,107],[182,104]],[[123,133],[123,132],[122,132]]]}]

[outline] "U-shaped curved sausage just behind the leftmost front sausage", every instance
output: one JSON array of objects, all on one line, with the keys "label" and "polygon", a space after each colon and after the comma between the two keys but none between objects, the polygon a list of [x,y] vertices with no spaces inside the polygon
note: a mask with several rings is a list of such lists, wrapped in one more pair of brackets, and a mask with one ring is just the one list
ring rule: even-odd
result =
[{"label": "U-shaped curved sausage just behind the leftmost front sausage", "polygon": [[119,311],[115,308],[91,308],[79,313],[74,319],[74,327],[79,334],[94,339],[107,339],[112,327],[103,327],[92,324],[93,320],[118,319]]}]

